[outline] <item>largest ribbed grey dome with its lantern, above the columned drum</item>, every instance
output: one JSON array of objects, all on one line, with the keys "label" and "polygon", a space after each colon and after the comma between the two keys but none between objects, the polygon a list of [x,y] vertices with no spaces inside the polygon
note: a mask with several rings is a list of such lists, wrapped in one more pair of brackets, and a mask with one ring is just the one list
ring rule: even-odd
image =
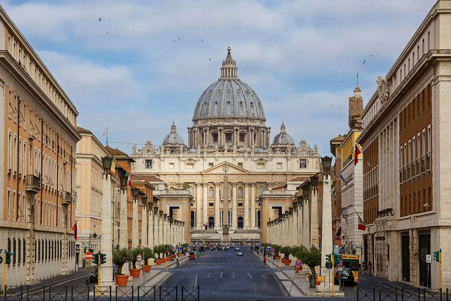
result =
[{"label": "largest ribbed grey dome with its lantern, above the columned drum", "polygon": [[265,120],[257,93],[237,76],[235,60],[230,54],[222,61],[221,76],[199,97],[193,120],[212,117],[244,117]]}]

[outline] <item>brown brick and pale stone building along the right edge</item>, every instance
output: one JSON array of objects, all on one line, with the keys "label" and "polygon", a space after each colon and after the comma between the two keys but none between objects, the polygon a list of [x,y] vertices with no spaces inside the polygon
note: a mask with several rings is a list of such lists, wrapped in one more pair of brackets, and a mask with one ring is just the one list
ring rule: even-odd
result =
[{"label": "brown brick and pale stone building along the right edge", "polygon": [[[427,14],[363,112],[364,258],[377,276],[451,287],[449,1]],[[437,163],[437,164],[435,164]]]}]

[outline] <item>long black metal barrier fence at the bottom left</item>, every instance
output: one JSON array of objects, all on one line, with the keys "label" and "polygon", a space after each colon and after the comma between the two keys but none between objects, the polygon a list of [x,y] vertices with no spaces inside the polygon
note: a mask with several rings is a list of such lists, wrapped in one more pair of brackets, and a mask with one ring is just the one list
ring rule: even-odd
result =
[{"label": "long black metal barrier fence at the bottom left", "polygon": [[[158,297],[157,290],[158,289]],[[178,300],[179,287],[6,286],[2,301],[157,301]],[[182,301],[200,299],[199,287],[181,287]]]}]

